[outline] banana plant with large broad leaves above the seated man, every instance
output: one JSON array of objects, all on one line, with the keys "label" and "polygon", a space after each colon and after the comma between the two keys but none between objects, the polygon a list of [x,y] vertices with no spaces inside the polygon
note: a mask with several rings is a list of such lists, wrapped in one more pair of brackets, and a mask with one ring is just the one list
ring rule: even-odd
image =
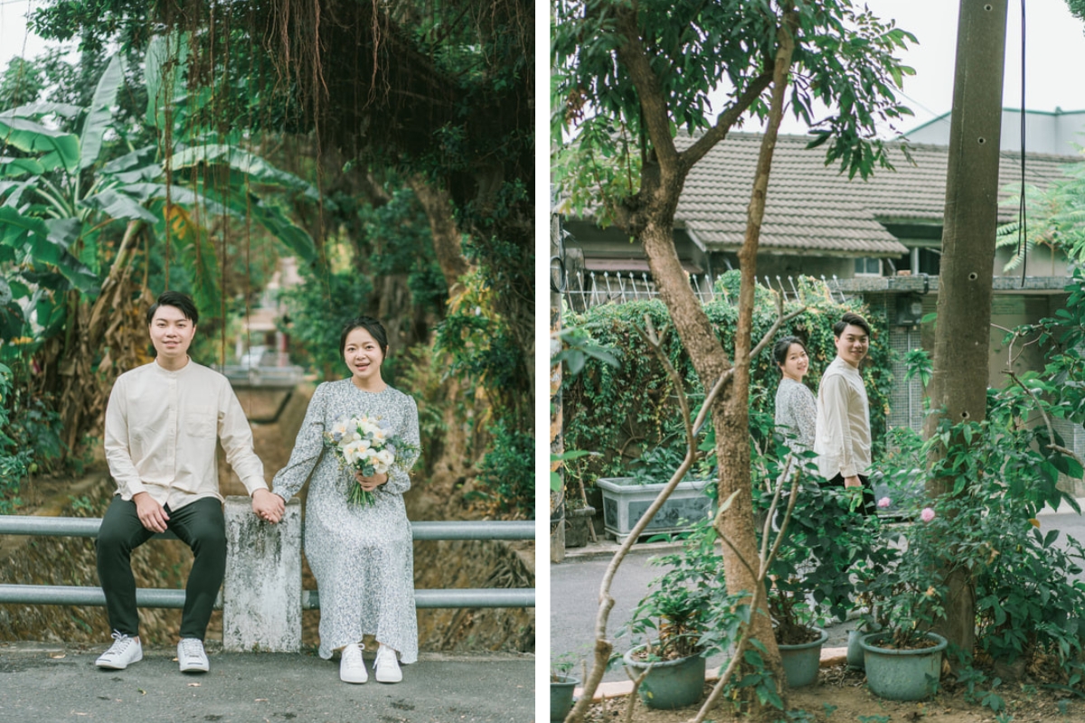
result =
[{"label": "banana plant with large broad leaves above the seated man", "polygon": [[219,308],[221,280],[213,221],[255,222],[303,261],[317,259],[311,236],[273,197],[317,199],[316,191],[197,127],[208,94],[187,93],[188,52],[187,37],[175,34],[153,39],[146,53],[143,121],[175,139],[168,149],[125,141],[115,115],[125,79],[119,55],[106,64],[89,107],[33,103],[0,112],[0,292],[9,299],[0,304],[0,341],[56,333],[63,292],[93,297],[108,272],[106,246],[132,223],[151,244],[170,244],[208,310]]}]

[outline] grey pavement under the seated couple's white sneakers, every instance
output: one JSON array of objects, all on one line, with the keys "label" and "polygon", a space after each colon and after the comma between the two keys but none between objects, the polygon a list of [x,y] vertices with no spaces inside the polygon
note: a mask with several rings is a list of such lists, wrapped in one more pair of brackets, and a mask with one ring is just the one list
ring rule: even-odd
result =
[{"label": "grey pavement under the seated couple's white sneakers", "polygon": [[[104,646],[103,646],[104,648]],[[0,723],[526,723],[535,711],[534,656],[422,654],[404,681],[339,680],[314,655],[215,653],[210,672],[177,669],[176,649],[143,651],[122,671],[99,650],[0,643]],[[370,661],[371,662],[371,661]],[[370,669],[372,666],[370,664]]]}]

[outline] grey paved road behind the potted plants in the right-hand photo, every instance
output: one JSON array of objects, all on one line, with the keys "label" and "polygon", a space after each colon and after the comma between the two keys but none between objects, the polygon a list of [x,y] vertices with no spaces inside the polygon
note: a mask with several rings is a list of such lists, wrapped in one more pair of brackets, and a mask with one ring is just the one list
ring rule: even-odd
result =
[{"label": "grey paved road behind the potted plants in the right-hand photo", "polygon": [[[1082,507],[1085,508],[1085,501]],[[1044,513],[1041,515],[1041,529],[1058,529],[1062,532],[1060,541],[1067,535],[1085,542],[1085,517],[1076,513]],[[565,561],[550,567],[550,659],[562,654],[572,654],[579,661],[589,657],[590,645],[595,635],[596,616],[599,609],[599,583],[602,580],[611,556],[617,550],[613,541],[591,544],[587,548],[570,550]],[[649,589],[653,579],[662,574],[664,568],[652,566],[649,559],[652,555],[666,554],[678,550],[678,545],[641,545],[634,547],[626,557],[611,588],[614,597],[614,608],[611,610],[607,630],[614,642],[614,649],[624,653],[636,643],[629,637],[614,635],[622,624],[629,620],[633,608]],[[1085,574],[1078,576],[1085,580]],[[829,627],[827,647],[843,647],[847,645],[847,631],[854,628],[854,622],[844,622]],[[709,659],[709,670],[718,669],[725,664],[725,656]],[[576,674],[582,674],[577,662]],[[621,668],[607,671],[604,681],[625,681],[628,676]]]}]

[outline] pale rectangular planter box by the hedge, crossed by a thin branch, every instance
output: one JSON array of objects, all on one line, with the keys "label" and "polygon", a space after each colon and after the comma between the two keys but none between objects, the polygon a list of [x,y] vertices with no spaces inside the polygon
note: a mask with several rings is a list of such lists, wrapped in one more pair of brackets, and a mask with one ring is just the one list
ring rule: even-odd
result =
[{"label": "pale rectangular planter box by the hedge, crossed by a thin branch", "polygon": [[[634,485],[631,477],[600,477],[596,480],[603,493],[603,526],[621,543],[633,527],[655,501],[655,496],[666,487],[659,485]],[[671,493],[643,534],[680,532],[694,520],[702,519],[712,511],[712,499],[705,490],[713,480],[701,479],[679,482]]]}]

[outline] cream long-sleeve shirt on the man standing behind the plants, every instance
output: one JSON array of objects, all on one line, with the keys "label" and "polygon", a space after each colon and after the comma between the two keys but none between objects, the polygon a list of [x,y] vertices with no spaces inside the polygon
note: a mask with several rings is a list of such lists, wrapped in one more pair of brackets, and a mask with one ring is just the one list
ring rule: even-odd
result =
[{"label": "cream long-sleeve shirt on the man standing behind the plants", "polygon": [[837,357],[817,390],[814,451],[821,476],[870,474],[870,403],[863,376]]}]

